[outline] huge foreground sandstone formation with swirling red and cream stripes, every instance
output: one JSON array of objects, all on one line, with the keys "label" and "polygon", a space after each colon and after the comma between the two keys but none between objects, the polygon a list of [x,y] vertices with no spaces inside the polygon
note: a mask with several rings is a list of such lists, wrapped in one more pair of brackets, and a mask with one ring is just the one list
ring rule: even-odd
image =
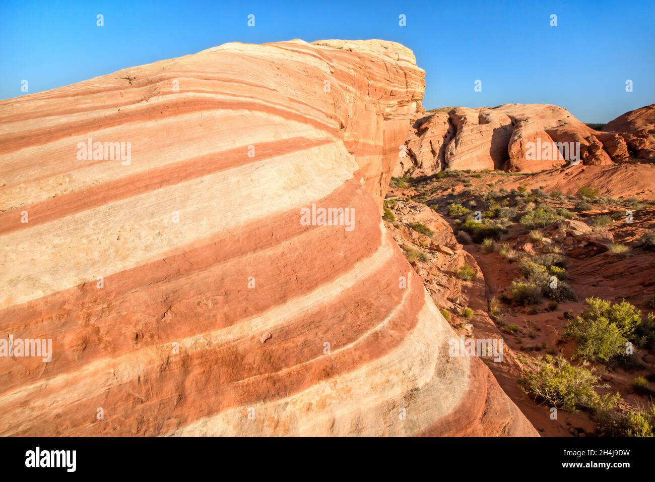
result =
[{"label": "huge foreground sandstone formation with swirling red and cream stripes", "polygon": [[52,340],[0,434],[536,435],[379,216],[423,88],[295,40],[0,102],[0,332]]}]

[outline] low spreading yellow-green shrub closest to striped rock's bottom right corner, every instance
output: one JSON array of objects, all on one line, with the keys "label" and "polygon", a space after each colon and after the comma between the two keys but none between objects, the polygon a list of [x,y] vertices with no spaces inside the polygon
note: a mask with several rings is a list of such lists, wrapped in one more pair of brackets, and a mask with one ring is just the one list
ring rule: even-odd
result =
[{"label": "low spreading yellow-green shrub closest to striped rock's bottom right corner", "polygon": [[586,362],[571,365],[564,357],[525,357],[523,376],[519,378],[523,390],[538,402],[576,413],[580,409],[605,412],[614,407],[620,396],[599,395],[597,388],[605,388],[600,377]]}]

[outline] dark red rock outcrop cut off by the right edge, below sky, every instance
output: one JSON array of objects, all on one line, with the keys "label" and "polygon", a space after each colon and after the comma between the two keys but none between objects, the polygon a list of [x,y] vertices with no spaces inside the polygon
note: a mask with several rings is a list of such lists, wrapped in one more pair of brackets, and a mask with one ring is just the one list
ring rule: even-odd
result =
[{"label": "dark red rock outcrop cut off by the right edge, below sky", "polygon": [[635,157],[655,159],[655,104],[616,117],[603,131],[620,134]]}]

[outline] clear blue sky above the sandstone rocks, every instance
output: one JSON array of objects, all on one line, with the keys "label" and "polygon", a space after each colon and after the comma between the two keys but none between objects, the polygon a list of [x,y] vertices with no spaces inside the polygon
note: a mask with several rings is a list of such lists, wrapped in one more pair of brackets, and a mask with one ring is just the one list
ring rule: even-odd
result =
[{"label": "clear blue sky above the sandstone rocks", "polygon": [[655,102],[655,1],[605,0],[2,0],[0,98],[24,95],[22,79],[33,93],[225,42],[293,38],[407,45],[426,71],[427,109],[543,102],[607,122]]}]

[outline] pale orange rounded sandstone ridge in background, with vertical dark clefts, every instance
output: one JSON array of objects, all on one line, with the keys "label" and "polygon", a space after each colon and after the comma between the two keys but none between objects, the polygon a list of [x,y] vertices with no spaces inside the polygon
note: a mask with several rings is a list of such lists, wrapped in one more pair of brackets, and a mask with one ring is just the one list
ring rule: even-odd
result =
[{"label": "pale orange rounded sandstone ridge in background, with vertical dark clefts", "polygon": [[415,121],[406,144],[413,167],[428,173],[539,172],[567,163],[609,165],[629,157],[618,133],[595,131],[549,104],[436,111]]}]

